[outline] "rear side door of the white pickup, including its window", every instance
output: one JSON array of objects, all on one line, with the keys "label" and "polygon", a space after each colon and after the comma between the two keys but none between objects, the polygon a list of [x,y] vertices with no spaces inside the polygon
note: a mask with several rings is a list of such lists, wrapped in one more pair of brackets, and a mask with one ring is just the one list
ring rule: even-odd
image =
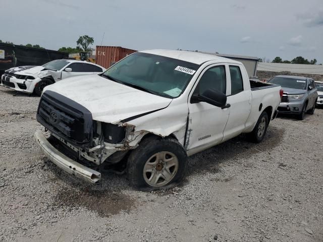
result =
[{"label": "rear side door of the white pickup, including its window", "polygon": [[240,65],[231,64],[227,68],[230,73],[230,93],[227,96],[227,103],[230,103],[231,107],[223,141],[241,134],[245,129],[252,101],[250,86],[245,87],[243,82],[243,79],[249,82],[247,74],[241,71]]}]

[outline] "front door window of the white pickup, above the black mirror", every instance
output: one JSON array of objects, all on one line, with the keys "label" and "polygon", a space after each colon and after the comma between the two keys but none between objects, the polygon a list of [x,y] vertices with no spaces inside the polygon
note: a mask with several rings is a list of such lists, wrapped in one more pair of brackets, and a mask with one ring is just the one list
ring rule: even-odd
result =
[{"label": "front door window of the white pickup, above the black mirror", "polygon": [[203,94],[207,89],[214,88],[226,94],[227,78],[225,66],[211,67],[204,72],[195,90],[198,94]]}]

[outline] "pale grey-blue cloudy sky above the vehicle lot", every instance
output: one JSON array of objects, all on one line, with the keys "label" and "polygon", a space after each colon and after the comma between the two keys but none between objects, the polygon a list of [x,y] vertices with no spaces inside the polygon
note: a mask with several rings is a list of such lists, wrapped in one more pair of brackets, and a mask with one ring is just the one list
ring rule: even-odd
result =
[{"label": "pale grey-blue cloudy sky above the vehicle lot", "polygon": [[2,0],[0,39],[58,49],[189,49],[323,63],[323,1]]}]

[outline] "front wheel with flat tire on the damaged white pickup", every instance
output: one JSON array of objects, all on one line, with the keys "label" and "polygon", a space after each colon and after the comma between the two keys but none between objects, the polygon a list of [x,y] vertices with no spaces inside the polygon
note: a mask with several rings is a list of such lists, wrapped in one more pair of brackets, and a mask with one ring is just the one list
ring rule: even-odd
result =
[{"label": "front wheel with flat tire on the damaged white pickup", "polygon": [[186,169],[187,154],[176,139],[148,137],[130,153],[127,176],[139,190],[171,189],[181,183]]}]

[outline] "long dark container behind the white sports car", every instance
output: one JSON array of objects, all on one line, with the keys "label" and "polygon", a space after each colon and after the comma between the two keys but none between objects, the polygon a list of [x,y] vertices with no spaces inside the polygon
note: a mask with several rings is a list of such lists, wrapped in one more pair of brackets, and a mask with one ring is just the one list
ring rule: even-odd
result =
[{"label": "long dark container behind the white sports car", "polygon": [[67,52],[0,43],[0,76],[12,67],[41,66],[68,57]]}]

